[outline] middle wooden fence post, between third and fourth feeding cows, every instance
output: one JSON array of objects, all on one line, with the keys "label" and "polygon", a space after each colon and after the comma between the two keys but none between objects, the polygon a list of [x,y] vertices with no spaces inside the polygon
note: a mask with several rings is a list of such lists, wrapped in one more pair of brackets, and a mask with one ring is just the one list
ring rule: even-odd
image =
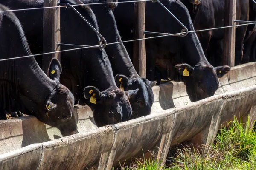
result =
[{"label": "middle wooden fence post, between third and fourth feeding cows", "polygon": [[[134,39],[145,38],[145,7],[145,1],[134,3]],[[134,41],[133,64],[139,76],[146,77],[145,40]]]}]

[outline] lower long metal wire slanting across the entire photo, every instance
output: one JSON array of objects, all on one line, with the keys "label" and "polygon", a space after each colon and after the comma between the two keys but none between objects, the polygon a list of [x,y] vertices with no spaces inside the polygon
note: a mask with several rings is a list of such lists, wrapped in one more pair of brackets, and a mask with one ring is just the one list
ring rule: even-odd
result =
[{"label": "lower long metal wire slanting across the entire photo", "polygon": [[[251,25],[251,24],[256,24],[256,22],[255,22],[255,23],[247,23],[247,24],[234,25],[234,26],[225,26],[225,27],[218,27],[218,28],[209,28],[209,29],[203,29],[203,30],[197,30],[197,31],[188,31],[188,33],[200,32],[200,31],[210,31],[210,30],[215,30],[215,29],[223,29],[223,28],[230,28],[230,27],[236,27],[236,26],[246,26],[246,25]],[[163,33],[163,34],[165,34],[165,33]],[[121,42],[112,42],[112,43],[108,43],[108,44],[106,44],[106,45],[113,45],[113,44],[119,44],[119,43],[125,43],[125,42],[132,42],[132,41],[139,41],[139,40],[148,40],[148,39],[152,39],[152,38],[167,37],[167,36],[173,36],[173,35],[177,35],[177,34],[184,34],[184,32],[175,33],[175,34],[165,34],[165,35],[154,36],[154,37],[147,37],[147,38],[140,38],[140,39],[136,39],[136,40],[127,40],[127,41],[121,41]],[[81,45],[81,46],[83,46],[83,45]],[[68,50],[53,51],[53,52],[42,53],[42,54],[32,54],[32,55],[22,56],[22,57],[13,57],[13,58],[8,58],[8,59],[0,59],[0,61],[6,61],[6,60],[11,60],[11,59],[20,59],[20,58],[25,58],[25,57],[35,57],[35,56],[46,55],[46,54],[54,54],[54,53],[65,52],[65,51],[81,50],[81,49],[85,49],[85,48],[98,47],[98,46],[101,46],[101,45],[94,45],[94,46],[87,46],[87,45],[84,45],[84,47],[81,47],[81,48],[73,48],[73,49],[68,49]]]}]

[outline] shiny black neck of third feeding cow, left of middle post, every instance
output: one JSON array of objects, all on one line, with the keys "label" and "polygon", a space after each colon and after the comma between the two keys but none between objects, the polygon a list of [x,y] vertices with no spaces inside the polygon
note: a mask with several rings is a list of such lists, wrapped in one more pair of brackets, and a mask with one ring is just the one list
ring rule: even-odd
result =
[{"label": "shiny black neck of third feeding cow, left of middle post", "polygon": [[[92,8],[98,19],[99,31],[106,41],[108,43],[121,42],[113,11],[105,5],[92,6]],[[107,45],[105,51],[108,54],[114,75],[123,74],[129,78],[139,77],[123,43]]]}]

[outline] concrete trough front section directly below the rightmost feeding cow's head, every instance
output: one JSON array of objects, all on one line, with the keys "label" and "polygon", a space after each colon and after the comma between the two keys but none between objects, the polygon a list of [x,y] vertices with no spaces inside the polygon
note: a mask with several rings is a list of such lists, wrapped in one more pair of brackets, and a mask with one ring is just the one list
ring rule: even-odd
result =
[{"label": "concrete trough front section directly below the rightmost feeding cow's head", "polygon": [[222,95],[218,95],[177,108],[171,145],[191,139],[201,132],[211,123],[212,116],[219,114],[221,104]]}]

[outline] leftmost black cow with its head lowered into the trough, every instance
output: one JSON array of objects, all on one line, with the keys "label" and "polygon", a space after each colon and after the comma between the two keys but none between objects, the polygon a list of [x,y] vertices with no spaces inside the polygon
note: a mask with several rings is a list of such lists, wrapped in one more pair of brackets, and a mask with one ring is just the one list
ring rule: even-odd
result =
[{"label": "leftmost black cow with its head lowered into the trough", "polygon": [[[9,8],[0,5],[0,11],[6,10]],[[0,37],[0,59],[32,55],[20,21],[12,12],[0,12]],[[35,115],[68,136],[77,133],[74,96],[59,83],[58,60],[52,59],[50,67],[56,68],[52,79],[44,74],[34,57],[0,61],[0,109],[11,108],[15,99],[19,102],[15,106],[20,106],[15,109]]]}]

